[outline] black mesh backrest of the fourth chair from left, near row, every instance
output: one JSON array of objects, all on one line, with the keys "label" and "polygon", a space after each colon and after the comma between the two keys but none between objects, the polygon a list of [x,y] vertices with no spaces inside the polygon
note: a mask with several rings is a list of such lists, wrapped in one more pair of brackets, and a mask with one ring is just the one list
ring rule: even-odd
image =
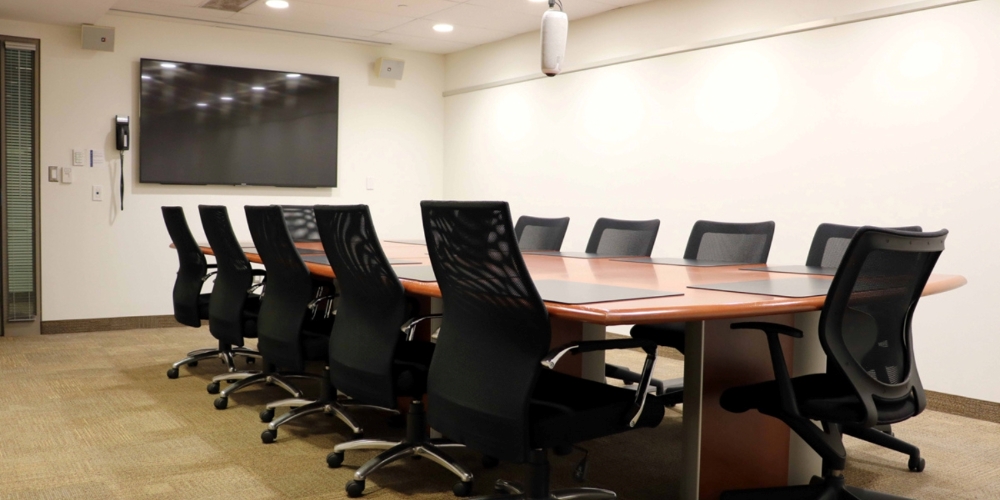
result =
[{"label": "black mesh backrest of the fourth chair from left, near row", "polygon": [[392,364],[407,319],[403,285],[382,251],[367,205],[317,206],[316,222],[340,289],[330,379],[356,401],[394,408]]}]

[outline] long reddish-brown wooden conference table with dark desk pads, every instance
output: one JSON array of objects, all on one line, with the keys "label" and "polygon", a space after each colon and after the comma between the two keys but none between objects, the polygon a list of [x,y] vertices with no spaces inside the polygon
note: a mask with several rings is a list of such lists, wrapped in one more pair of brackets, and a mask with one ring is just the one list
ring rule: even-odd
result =
[{"label": "long reddish-brown wooden conference table with dark desk pads", "polygon": [[[322,250],[319,242],[300,242],[304,253]],[[415,242],[383,242],[389,259],[429,266],[426,246]],[[211,248],[202,248],[211,254]],[[245,249],[260,263],[253,249]],[[683,438],[681,443],[683,499],[715,499],[730,489],[806,484],[819,474],[819,457],[783,422],[757,412],[732,414],[719,406],[723,390],[773,380],[767,341],[763,333],[731,330],[731,323],[770,321],[795,326],[802,339],[782,336],[793,376],[820,373],[826,357],[819,344],[818,320],[825,296],[779,297],[688,288],[713,283],[802,279],[801,275],[741,270],[746,265],[692,267],[624,262],[614,258],[569,258],[524,254],[532,279],[667,290],[683,295],[565,304],[546,302],[552,322],[552,345],[605,338],[612,325],[685,322]],[[335,279],[322,262],[306,262],[312,274]],[[402,269],[399,266],[397,269]],[[812,276],[830,280],[830,276]],[[441,291],[432,281],[401,278],[407,293],[423,299],[425,312],[440,310]],[[961,287],[962,276],[935,274],[923,295]],[[604,380],[604,354],[566,356],[560,371]],[[669,444],[665,444],[667,446]],[[641,459],[641,457],[637,457]]]}]

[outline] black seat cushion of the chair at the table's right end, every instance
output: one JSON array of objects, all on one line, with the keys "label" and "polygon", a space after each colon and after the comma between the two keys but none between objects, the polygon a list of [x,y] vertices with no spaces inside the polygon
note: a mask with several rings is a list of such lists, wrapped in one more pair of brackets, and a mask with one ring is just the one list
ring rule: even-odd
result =
[{"label": "black seat cushion of the chair at the table's right end", "polygon": [[[839,377],[826,373],[805,375],[792,379],[795,400],[799,413],[810,420],[833,423],[860,423],[864,419],[864,404],[854,393],[854,389]],[[775,415],[780,409],[778,384],[775,381],[761,382],[727,389],[719,401],[723,408],[734,413],[759,410]],[[917,413],[913,398],[894,401],[875,401],[878,409],[878,423],[901,422]]]}]

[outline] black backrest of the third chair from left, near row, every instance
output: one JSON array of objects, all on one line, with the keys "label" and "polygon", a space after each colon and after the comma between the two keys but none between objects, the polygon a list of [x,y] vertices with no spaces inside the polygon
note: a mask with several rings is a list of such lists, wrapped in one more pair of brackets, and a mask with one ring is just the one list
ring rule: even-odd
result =
[{"label": "black backrest of the third chair from left, near row", "polygon": [[303,371],[302,326],[312,299],[309,269],[285,227],[281,207],[245,207],[250,236],[267,268],[257,315],[257,349],[280,370]]}]

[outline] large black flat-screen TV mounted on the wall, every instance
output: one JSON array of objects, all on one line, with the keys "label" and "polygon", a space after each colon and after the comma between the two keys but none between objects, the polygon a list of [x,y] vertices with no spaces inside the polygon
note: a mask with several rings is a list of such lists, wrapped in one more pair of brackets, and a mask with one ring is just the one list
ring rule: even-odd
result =
[{"label": "large black flat-screen TV mounted on the wall", "polygon": [[139,181],[337,186],[340,79],[140,62]]}]

